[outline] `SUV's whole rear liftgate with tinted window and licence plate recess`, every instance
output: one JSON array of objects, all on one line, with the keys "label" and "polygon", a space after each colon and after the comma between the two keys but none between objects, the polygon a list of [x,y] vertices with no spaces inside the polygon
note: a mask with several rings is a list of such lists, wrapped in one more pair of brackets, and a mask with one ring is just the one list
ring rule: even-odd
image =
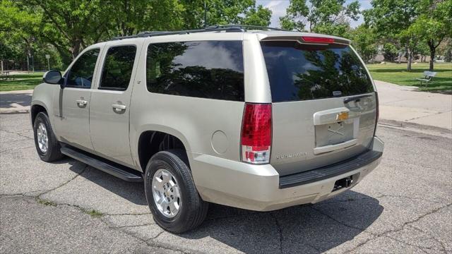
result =
[{"label": "SUV's whole rear liftgate with tinted window and licence plate recess", "polygon": [[347,44],[263,41],[273,101],[270,164],[280,175],[343,161],[368,150],[376,93]]}]

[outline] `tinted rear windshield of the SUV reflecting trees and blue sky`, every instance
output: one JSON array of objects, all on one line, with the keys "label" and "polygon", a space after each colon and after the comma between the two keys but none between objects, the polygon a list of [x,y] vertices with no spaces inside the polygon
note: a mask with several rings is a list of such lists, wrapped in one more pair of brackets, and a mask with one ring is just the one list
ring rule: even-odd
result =
[{"label": "tinted rear windshield of the SUV reflecting trees and blue sky", "polygon": [[273,102],[374,92],[355,52],[346,45],[261,42]]}]

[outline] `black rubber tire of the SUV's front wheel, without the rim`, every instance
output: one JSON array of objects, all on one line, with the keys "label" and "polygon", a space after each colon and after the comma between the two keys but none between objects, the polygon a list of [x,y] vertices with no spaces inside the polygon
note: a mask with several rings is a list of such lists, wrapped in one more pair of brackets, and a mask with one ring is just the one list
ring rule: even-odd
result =
[{"label": "black rubber tire of the SUV's front wheel, without the rim", "polygon": [[[39,128],[40,123],[44,124],[47,132],[48,145],[47,150],[45,152],[42,152],[37,141],[37,128]],[[58,159],[61,159],[64,156],[61,154],[60,151],[61,147],[59,145],[57,138],[55,138],[54,131],[52,129],[52,126],[50,125],[49,116],[47,116],[46,113],[40,112],[37,114],[35,122],[33,123],[33,135],[35,137],[35,146],[37,154],[44,162],[54,162],[57,161]]]}]

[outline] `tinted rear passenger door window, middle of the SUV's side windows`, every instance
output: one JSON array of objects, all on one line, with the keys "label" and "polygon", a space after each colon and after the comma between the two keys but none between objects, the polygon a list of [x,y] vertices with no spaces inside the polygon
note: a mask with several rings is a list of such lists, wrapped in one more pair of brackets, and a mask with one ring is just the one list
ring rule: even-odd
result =
[{"label": "tinted rear passenger door window, middle of the SUV's side windows", "polygon": [[135,61],[135,46],[111,47],[105,56],[99,89],[126,90]]}]

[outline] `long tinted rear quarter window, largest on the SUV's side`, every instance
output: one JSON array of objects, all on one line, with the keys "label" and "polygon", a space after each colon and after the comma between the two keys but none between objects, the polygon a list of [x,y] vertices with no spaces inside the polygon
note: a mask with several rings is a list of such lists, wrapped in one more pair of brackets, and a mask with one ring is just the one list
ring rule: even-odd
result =
[{"label": "long tinted rear quarter window, largest on the SUV's side", "polygon": [[150,44],[149,92],[244,101],[241,41]]}]

